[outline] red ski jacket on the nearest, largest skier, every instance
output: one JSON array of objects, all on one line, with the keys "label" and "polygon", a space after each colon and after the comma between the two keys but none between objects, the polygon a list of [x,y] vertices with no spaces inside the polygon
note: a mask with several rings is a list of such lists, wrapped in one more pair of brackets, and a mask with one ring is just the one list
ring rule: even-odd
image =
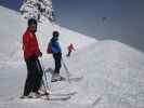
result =
[{"label": "red ski jacket on the nearest, largest skier", "polygon": [[27,28],[26,32],[23,35],[23,51],[25,59],[35,56],[39,57],[40,50],[35,32]]}]

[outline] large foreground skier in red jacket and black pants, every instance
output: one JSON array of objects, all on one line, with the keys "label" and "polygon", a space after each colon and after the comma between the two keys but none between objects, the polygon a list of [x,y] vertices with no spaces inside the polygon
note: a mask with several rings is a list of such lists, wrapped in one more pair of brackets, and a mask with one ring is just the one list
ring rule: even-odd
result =
[{"label": "large foreground skier in red jacket and black pants", "polygon": [[21,98],[30,96],[32,92],[36,96],[40,96],[39,89],[41,86],[43,71],[38,59],[42,56],[39,50],[37,37],[37,21],[35,18],[28,19],[28,27],[23,35],[23,51],[24,59],[27,66],[27,78],[24,87],[24,94]]}]

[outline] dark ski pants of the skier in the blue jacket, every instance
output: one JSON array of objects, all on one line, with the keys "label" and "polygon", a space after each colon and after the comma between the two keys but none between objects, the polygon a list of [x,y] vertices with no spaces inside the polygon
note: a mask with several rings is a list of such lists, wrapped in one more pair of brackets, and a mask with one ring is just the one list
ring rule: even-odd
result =
[{"label": "dark ski pants of the skier in the blue jacket", "polygon": [[62,59],[62,53],[53,53],[53,58],[54,58],[54,62],[55,62],[55,69],[54,69],[54,73],[60,73],[60,69],[62,67],[62,64],[61,64],[61,59]]}]

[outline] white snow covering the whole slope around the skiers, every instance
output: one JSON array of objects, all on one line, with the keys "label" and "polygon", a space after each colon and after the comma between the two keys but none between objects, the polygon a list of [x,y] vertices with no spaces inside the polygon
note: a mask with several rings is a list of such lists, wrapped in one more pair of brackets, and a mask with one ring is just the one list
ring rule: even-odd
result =
[{"label": "white snow covering the whole slope around the skiers", "polygon": [[[64,62],[79,82],[49,83],[51,92],[78,92],[67,102],[21,100],[26,67],[21,49],[26,21],[16,12],[0,6],[0,108],[144,108],[144,53],[118,41],[96,41],[87,36],[52,25],[39,25],[38,40],[44,69],[53,68],[45,49],[54,29],[60,30]],[[76,52],[66,58],[66,48]],[[62,76],[66,76],[64,67]]]}]

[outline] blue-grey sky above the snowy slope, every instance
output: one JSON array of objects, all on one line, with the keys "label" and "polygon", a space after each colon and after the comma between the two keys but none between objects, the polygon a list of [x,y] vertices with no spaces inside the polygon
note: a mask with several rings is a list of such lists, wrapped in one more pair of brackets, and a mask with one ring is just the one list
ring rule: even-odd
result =
[{"label": "blue-grey sky above the snowy slope", "polygon": [[[144,51],[144,0],[52,0],[56,23],[96,39],[114,39]],[[18,11],[22,0],[0,0]]]}]

